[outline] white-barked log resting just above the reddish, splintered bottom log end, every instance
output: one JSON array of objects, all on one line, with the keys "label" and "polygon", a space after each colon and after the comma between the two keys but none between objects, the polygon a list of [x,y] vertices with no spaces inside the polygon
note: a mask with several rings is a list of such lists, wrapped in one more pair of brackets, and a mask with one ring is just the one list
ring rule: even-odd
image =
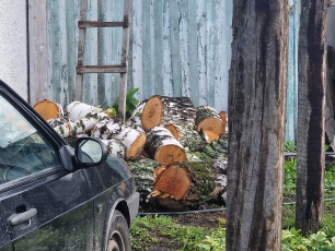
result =
[{"label": "white-barked log resting just above the reddish, splintered bottom log end", "polygon": [[183,145],[168,129],[161,127],[154,127],[147,132],[145,152],[149,157],[163,165],[186,160]]}]

